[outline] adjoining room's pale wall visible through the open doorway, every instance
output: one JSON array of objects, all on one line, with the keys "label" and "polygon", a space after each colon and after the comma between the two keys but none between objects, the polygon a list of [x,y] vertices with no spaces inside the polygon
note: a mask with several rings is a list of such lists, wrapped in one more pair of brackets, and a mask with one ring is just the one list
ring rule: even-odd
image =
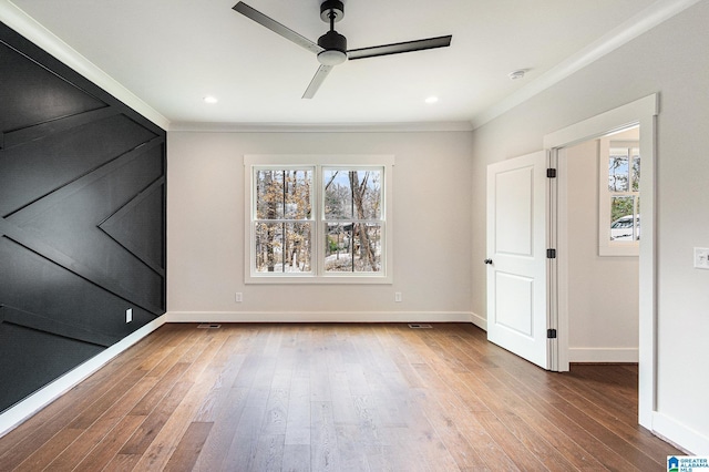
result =
[{"label": "adjoining room's pale wall visible through the open doorway", "polygon": [[[598,141],[566,150],[572,362],[638,361],[638,258],[598,255]],[[559,184],[562,185],[562,184]]]}]

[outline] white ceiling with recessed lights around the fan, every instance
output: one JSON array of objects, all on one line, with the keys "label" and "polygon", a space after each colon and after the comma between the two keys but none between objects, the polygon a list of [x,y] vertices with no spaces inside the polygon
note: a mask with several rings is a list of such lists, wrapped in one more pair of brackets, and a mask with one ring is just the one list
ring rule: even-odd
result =
[{"label": "white ceiling with recessed lights around the fan", "polygon": [[[246,2],[312,41],[328,29],[320,0]],[[336,25],[349,49],[444,34],[451,47],[345,62],[312,100],[300,96],[315,54],[232,10],[236,0],[11,3],[172,124],[352,124],[474,122],[662,2],[349,0]],[[516,69],[525,79],[507,78]]]}]

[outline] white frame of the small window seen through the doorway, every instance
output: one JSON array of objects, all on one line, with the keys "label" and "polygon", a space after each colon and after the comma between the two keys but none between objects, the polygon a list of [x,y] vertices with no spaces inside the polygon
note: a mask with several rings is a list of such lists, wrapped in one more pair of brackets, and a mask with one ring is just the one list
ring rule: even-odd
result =
[{"label": "white frame of the small window seen through the doorway", "polygon": [[[639,240],[612,240],[610,239],[610,198],[614,195],[608,191],[608,156],[612,147],[639,148],[638,141],[613,140],[612,136],[603,137],[598,145],[598,255],[599,256],[639,256]],[[643,168],[640,156],[640,170]],[[628,186],[631,186],[633,156],[628,157]],[[639,192],[618,192],[618,194],[639,196]]]}]

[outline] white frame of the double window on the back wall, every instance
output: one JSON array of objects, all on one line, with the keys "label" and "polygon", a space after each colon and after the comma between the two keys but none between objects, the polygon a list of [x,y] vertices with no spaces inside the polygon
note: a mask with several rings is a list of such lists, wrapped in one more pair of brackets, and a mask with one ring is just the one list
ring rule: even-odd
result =
[{"label": "white frame of the double window on the back wall", "polygon": [[[245,224],[244,224],[244,280],[246,284],[392,284],[393,225],[392,181],[393,155],[282,155],[249,154],[244,156]],[[257,273],[255,247],[255,170],[311,168],[311,271],[310,273]],[[382,254],[381,270],[376,273],[325,271],[325,209],[322,205],[322,170],[382,170]]]}]

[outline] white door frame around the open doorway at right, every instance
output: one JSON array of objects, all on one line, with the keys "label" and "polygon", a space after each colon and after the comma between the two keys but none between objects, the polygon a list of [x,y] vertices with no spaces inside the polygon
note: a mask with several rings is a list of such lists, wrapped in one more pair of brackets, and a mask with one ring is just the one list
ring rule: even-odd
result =
[{"label": "white door frame around the open doorway at right", "polygon": [[[656,116],[659,113],[659,95],[657,93],[636,100],[635,102],[613,109],[599,115],[584,120],[544,136],[544,148],[552,162],[556,162],[558,153],[589,140],[594,140],[616,131],[640,126],[640,155],[643,173],[643,238],[639,255],[639,342],[638,342],[638,422],[653,430],[653,415],[657,411],[657,247],[656,247]],[[559,205],[564,207],[565,193],[558,195]],[[549,306],[554,310],[552,319],[557,320],[558,342],[556,343],[558,367],[568,370],[568,273],[564,263],[564,249],[567,247],[565,215],[558,208],[551,217],[551,233],[557,237],[557,253],[554,259],[557,280],[551,286]],[[559,216],[562,220],[559,222]]]}]

